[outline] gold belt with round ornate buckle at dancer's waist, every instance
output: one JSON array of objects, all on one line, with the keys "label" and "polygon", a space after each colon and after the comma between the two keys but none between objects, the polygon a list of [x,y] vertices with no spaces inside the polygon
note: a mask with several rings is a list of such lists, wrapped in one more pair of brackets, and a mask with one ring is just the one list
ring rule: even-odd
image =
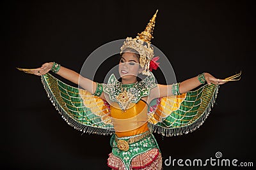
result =
[{"label": "gold belt with round ornate buckle at dancer's waist", "polygon": [[124,150],[127,151],[129,150],[129,145],[132,143],[136,143],[137,141],[140,141],[141,139],[145,138],[146,136],[148,136],[150,134],[149,131],[138,135],[138,136],[134,136],[132,138],[129,138],[127,141],[123,140],[123,139],[118,139],[117,137],[115,138],[115,141],[117,143],[117,147],[120,150]]}]

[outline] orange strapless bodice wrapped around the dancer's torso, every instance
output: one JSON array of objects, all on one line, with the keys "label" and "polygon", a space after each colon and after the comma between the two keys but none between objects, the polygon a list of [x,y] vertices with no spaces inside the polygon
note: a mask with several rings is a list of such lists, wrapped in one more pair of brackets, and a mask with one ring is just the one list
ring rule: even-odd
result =
[{"label": "orange strapless bodice wrapped around the dancer's torso", "polygon": [[110,106],[116,136],[134,136],[148,131],[148,106],[143,101],[131,103],[131,108],[122,111],[118,103]]}]

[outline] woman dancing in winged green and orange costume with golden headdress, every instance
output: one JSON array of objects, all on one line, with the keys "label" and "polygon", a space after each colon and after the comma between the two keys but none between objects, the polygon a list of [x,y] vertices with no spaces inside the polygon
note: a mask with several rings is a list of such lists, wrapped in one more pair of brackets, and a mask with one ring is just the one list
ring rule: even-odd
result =
[{"label": "woman dancing in winged green and orange costume with golden headdress", "polygon": [[[155,19],[156,14],[145,31],[127,38],[121,47],[121,81],[112,74],[107,84],[97,83],[55,62],[20,69],[42,76],[48,96],[69,125],[83,132],[113,134],[108,158],[112,169],[162,169],[161,151],[152,132],[175,136],[194,131],[209,114],[218,85],[236,78],[220,80],[202,73],[181,83],[157,84],[150,72],[152,64],[157,65],[150,46]],[[66,85],[49,71],[82,89]],[[146,77],[138,81],[140,74]],[[204,87],[190,91],[205,82]]]}]

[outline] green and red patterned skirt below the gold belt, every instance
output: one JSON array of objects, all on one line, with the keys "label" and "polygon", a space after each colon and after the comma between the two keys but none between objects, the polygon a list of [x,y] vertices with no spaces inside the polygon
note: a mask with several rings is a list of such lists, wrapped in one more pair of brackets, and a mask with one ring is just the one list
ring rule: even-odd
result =
[{"label": "green and red patterned skirt below the gold belt", "polygon": [[[132,136],[133,137],[133,136]],[[128,140],[130,137],[119,138]],[[112,169],[131,170],[131,169],[162,169],[162,156],[153,134],[131,143],[129,150],[118,148],[116,136],[111,138],[112,153],[109,153],[108,166]]]}]

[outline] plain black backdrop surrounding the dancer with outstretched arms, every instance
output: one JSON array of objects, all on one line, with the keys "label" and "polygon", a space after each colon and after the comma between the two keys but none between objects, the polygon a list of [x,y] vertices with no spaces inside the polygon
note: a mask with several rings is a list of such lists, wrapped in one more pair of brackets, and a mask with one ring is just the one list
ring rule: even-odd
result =
[{"label": "plain black backdrop surrounding the dancer with outstretched arms", "polygon": [[[110,136],[81,135],[67,125],[40,77],[15,67],[55,61],[79,72],[99,46],[143,31],[157,9],[152,44],[168,57],[177,81],[202,72],[225,78],[242,71],[241,80],[221,85],[200,129],[168,138],[156,134],[163,161],[169,156],[210,159],[221,152],[222,158],[256,166],[255,83],[249,76],[255,68],[249,60],[255,57],[251,1],[2,1],[1,169],[108,169]],[[227,169],[164,166],[194,168]]]}]

